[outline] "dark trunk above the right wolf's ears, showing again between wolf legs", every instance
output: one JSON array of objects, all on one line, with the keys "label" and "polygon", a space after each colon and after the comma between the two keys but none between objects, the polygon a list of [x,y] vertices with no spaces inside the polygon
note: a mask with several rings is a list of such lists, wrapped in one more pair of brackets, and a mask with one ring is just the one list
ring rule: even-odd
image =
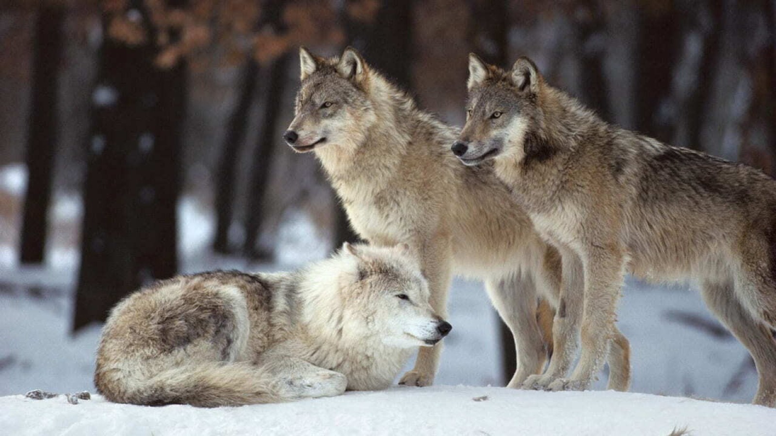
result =
[{"label": "dark trunk above the right wolf's ears, showing again between wolf legs", "polygon": [[[509,13],[506,0],[494,2],[473,0],[470,6],[473,16],[473,26],[470,29],[471,38],[476,53],[489,64],[511,67],[508,65],[507,58]],[[508,382],[517,369],[518,359],[514,348],[514,337],[503,320],[499,323],[498,330],[501,337],[501,350],[503,351],[501,365],[504,369],[504,380]]]}]

